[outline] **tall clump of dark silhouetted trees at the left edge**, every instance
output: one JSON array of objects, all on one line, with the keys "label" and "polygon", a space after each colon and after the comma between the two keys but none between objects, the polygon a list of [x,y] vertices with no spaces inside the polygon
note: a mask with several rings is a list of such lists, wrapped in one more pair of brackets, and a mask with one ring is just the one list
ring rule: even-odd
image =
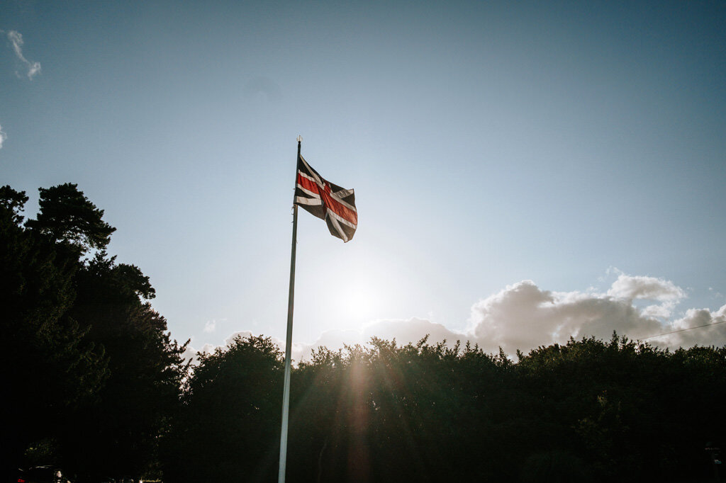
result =
[{"label": "tall clump of dark silhouetted trees at the left edge", "polygon": [[[0,188],[1,424],[5,481],[18,466],[150,474],[186,368],[134,265],[105,250],[115,228],[75,184],[28,197]],[[95,256],[86,260],[90,250]]]}]

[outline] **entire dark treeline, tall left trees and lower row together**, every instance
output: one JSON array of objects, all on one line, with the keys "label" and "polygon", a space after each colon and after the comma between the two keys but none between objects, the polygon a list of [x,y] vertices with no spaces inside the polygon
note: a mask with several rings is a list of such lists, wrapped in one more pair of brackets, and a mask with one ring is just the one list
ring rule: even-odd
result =
[{"label": "entire dark treeline, tall left trees and lower row together", "polygon": [[[188,366],[102,210],[71,184],[35,220],[26,200],[0,191],[4,468],[275,481],[279,348],[237,338]],[[287,481],[711,481],[725,396],[726,347],[323,347],[293,369]]]}]

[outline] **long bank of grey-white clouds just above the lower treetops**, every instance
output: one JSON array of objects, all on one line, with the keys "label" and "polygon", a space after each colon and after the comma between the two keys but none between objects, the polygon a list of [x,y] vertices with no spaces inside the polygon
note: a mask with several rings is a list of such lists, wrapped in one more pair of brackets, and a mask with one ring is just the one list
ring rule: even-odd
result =
[{"label": "long bank of grey-white clouds just above the lower treetops", "polygon": [[[343,344],[365,344],[373,336],[406,344],[427,334],[429,342],[469,341],[486,352],[498,352],[501,347],[508,355],[517,350],[526,353],[539,346],[566,343],[570,337],[609,339],[613,331],[658,347],[726,344],[726,323],[722,323],[726,322],[726,305],[713,312],[689,309],[682,317],[671,319],[674,307],[686,298],[683,289],[662,278],[617,273],[618,278],[605,292],[551,292],[531,280],[507,285],[472,305],[465,331],[452,331],[421,318],[373,321],[357,331],[326,331],[313,344],[293,344],[293,360],[309,358],[311,349],[319,346],[337,350]],[[681,331],[696,326],[706,327]],[[224,344],[237,335],[250,334],[235,332]],[[285,341],[274,342],[284,349]]]}]

